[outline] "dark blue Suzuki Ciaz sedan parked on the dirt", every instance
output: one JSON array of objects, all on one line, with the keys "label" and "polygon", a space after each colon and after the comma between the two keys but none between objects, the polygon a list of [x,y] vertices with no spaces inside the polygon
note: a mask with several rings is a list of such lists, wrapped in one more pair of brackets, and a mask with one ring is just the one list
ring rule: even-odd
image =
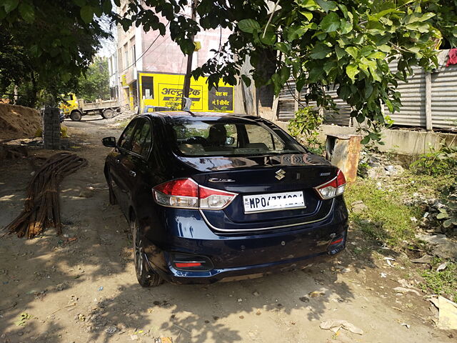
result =
[{"label": "dark blue Suzuki Ciaz sedan parked on the dirt", "polygon": [[141,286],[259,277],[346,245],[343,173],[265,119],[155,112],[103,142]]}]

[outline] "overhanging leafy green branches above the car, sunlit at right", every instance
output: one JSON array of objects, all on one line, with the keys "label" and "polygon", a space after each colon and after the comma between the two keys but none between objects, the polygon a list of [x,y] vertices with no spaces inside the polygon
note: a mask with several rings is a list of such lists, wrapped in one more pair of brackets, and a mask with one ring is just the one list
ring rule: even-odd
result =
[{"label": "overhanging leafy green branches above the car, sunlit at right", "polygon": [[[136,23],[164,34],[161,14],[185,54],[194,49],[191,34],[229,28],[229,41],[193,71],[194,77],[209,75],[211,85],[219,78],[235,84],[236,76],[249,84],[252,77],[256,86],[271,85],[275,94],[292,77],[298,90],[308,88],[306,101],[325,107],[334,106],[326,86],[335,86],[353,107],[351,116],[368,124],[363,143],[380,139],[386,124],[381,104],[389,111],[401,106],[398,81],[413,66],[433,68],[439,41],[457,45],[456,0],[278,0],[273,9],[269,2],[201,0],[197,23],[180,13],[189,1],[145,0],[146,6],[131,1],[128,14],[117,20],[124,29]],[[240,75],[246,56],[253,71]],[[396,73],[388,69],[393,59],[398,59]]]}]

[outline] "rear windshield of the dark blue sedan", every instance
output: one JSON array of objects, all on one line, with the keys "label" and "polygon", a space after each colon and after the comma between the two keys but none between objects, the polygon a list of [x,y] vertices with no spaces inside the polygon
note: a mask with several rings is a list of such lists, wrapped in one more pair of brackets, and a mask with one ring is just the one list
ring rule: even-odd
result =
[{"label": "rear windshield of the dark blue sedan", "polygon": [[303,154],[306,150],[279,129],[258,121],[179,121],[176,145],[186,156]]}]

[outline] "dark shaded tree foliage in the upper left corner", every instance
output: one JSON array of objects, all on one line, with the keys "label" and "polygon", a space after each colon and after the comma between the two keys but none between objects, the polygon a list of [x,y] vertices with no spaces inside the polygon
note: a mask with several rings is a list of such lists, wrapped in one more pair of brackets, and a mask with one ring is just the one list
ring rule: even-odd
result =
[{"label": "dark shaded tree foliage in the upper left corner", "polygon": [[36,106],[40,92],[55,103],[59,94],[76,89],[100,39],[110,36],[100,17],[111,12],[111,1],[96,1],[96,17],[84,4],[84,0],[1,1],[0,92],[11,94],[16,88],[26,98],[24,104]]}]

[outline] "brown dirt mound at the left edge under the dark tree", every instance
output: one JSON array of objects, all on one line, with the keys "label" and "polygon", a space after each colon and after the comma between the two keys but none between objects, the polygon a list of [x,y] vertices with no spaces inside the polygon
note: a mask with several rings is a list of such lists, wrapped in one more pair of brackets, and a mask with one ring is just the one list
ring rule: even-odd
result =
[{"label": "brown dirt mound at the left edge under the dark tree", "polygon": [[0,139],[33,137],[40,128],[41,116],[36,109],[0,104]]}]

